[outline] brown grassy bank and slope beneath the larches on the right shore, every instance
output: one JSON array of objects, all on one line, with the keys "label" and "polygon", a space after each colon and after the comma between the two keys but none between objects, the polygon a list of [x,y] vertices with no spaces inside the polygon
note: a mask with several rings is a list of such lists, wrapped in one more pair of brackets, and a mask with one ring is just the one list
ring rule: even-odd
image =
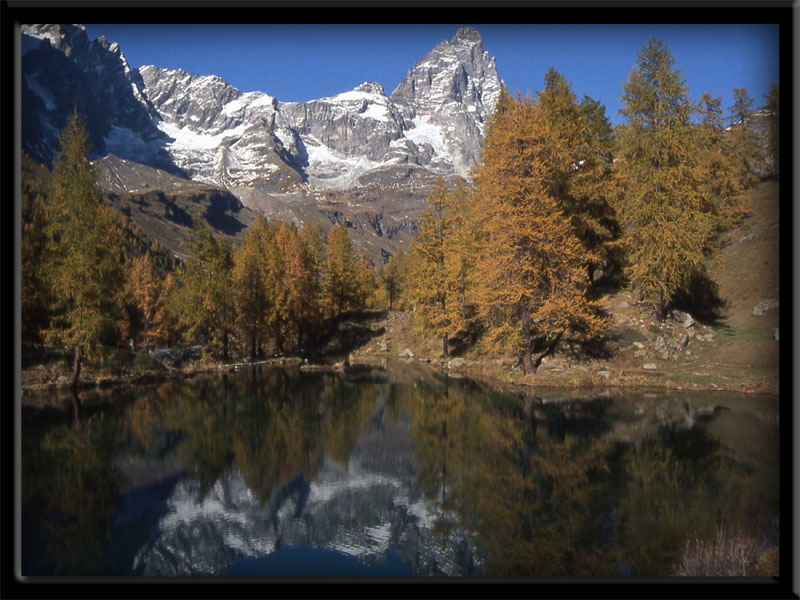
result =
[{"label": "brown grassy bank and slope beneath the larches on the right shore", "polygon": [[[466,365],[458,370],[498,383],[535,386],[647,385],[777,393],[779,342],[773,328],[778,327],[779,310],[754,316],[753,309],[762,300],[779,297],[778,184],[760,184],[751,199],[752,214],[722,236],[718,260],[709,264],[721,300],[713,318],[694,315],[697,322],[689,329],[672,319],[659,323],[630,293],[614,291],[600,298],[618,338],[610,358],[579,358],[562,351],[546,359],[535,375],[524,377],[512,370],[510,356],[471,349],[462,355]],[[396,357],[409,348],[415,360],[430,358],[433,366],[445,366],[440,342],[420,335],[411,313],[394,312],[370,326],[376,336],[351,355],[351,362]],[[385,331],[378,335],[381,328]],[[659,352],[659,337],[679,342],[690,329],[693,337],[685,347],[673,348],[669,358]],[[656,368],[645,369],[645,364]]]}]

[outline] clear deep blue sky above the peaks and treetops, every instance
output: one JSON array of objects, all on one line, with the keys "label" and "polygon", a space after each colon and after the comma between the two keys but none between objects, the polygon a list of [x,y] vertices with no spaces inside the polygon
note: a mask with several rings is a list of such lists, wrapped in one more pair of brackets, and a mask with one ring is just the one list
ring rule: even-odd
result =
[{"label": "clear deep blue sky above the peaks and treetops", "polygon": [[[535,93],[551,66],[573,91],[606,105],[618,122],[622,85],[636,52],[664,40],[693,100],[747,88],[756,105],[778,81],[777,25],[473,25],[513,93]],[[133,68],[155,64],[219,75],[244,91],[304,101],[377,81],[390,94],[409,68],[458,29],[453,25],[86,25],[117,42]]]}]

